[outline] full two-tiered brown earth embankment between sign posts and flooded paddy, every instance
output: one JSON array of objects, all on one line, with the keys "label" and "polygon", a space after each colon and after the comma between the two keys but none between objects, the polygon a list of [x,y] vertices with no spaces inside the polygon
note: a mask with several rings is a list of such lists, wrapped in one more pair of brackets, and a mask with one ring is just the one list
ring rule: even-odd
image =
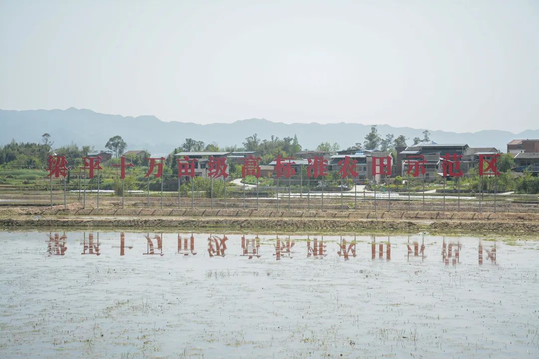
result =
[{"label": "full two-tiered brown earth embankment between sign posts and flooded paddy", "polygon": [[539,213],[440,211],[254,211],[87,208],[69,205],[0,209],[0,227],[20,228],[225,228],[266,231],[405,231],[495,234],[539,233]]}]

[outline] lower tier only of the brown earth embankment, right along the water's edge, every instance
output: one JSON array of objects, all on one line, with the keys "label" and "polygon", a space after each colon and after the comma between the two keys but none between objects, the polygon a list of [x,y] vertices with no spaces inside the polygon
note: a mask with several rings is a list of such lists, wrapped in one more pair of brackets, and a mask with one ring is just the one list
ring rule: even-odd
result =
[{"label": "lower tier only of the brown earth embankment, right along the water's edge", "polygon": [[118,228],[252,228],[289,231],[405,230],[437,232],[524,232],[539,233],[539,222],[467,221],[467,220],[401,220],[348,218],[231,218],[231,217],[19,217],[0,219],[2,227],[118,227]]}]

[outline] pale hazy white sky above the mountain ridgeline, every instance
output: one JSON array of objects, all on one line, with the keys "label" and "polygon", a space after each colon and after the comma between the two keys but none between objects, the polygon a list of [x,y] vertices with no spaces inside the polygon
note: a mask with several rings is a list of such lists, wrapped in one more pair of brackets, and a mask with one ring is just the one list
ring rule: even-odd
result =
[{"label": "pale hazy white sky above the mountain ridgeline", "polygon": [[539,128],[539,1],[0,0],[0,108]]}]

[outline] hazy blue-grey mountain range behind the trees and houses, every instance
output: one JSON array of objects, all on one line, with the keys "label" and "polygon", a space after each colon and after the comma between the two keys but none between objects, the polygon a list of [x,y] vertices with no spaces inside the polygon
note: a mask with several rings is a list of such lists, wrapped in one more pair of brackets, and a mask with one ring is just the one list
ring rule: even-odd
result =
[{"label": "hazy blue-grey mountain range behind the trees and houses", "polygon": [[[105,143],[114,135],[121,135],[128,149],[146,149],[154,155],[171,152],[181,146],[185,138],[217,142],[219,146],[242,145],[246,137],[257,133],[261,139],[272,135],[279,138],[298,135],[303,149],[315,149],[320,142],[337,142],[345,149],[356,142],[364,141],[371,125],[362,124],[284,124],[266,119],[246,119],[230,124],[199,125],[184,122],[165,122],[155,116],[123,117],[97,113],[86,109],[67,110],[0,110],[0,144],[17,142],[39,142],[42,134],[49,133],[54,147],[68,145],[90,145],[95,150],[105,149]],[[392,133],[404,135],[408,145],[414,137],[422,138],[424,128],[392,127],[378,125],[381,137]],[[429,130],[430,131],[430,130]],[[520,133],[499,130],[479,132],[430,131],[431,139],[437,143],[467,143],[470,147],[496,147],[506,151],[506,144],[513,139],[539,138],[539,130]]]}]

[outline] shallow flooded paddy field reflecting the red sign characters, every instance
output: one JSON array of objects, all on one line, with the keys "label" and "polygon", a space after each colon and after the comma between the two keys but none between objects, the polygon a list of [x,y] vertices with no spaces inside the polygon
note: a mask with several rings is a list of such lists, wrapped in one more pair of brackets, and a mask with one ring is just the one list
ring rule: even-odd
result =
[{"label": "shallow flooded paddy field reflecting the red sign characters", "polygon": [[539,241],[0,232],[2,358],[537,358]]}]

